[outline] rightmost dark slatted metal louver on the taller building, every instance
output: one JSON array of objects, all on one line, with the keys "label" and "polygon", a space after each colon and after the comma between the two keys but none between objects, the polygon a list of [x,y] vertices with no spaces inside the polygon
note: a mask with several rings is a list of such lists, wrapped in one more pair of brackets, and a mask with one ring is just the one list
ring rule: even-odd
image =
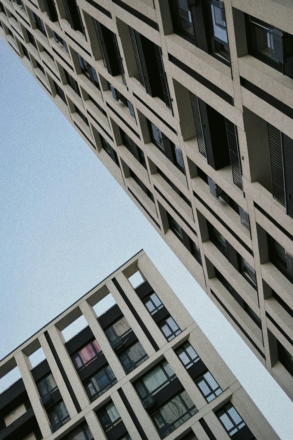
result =
[{"label": "rightmost dark slatted metal louver on the taller building", "polygon": [[273,197],[286,207],[283,149],[281,132],[267,122],[268,148],[271,162],[271,188]]}]

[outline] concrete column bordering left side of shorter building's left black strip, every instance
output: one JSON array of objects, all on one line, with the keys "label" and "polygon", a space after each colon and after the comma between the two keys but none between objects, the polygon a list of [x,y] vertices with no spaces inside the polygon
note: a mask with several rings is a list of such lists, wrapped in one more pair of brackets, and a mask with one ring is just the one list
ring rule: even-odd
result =
[{"label": "concrete column bordering left side of shorter building's left black strip", "polygon": [[58,389],[61,393],[62,399],[65,403],[67,411],[70,415],[70,418],[73,418],[76,414],[76,407],[72,402],[67,386],[65,385],[64,379],[62,378],[61,372],[57,366],[57,363],[54,359],[54,356],[51,352],[51,349],[47,343],[46,337],[44,334],[41,334],[39,337],[40,345],[43,348],[43,352],[46,356],[47,362],[49,364],[50,370],[54,376]]}]

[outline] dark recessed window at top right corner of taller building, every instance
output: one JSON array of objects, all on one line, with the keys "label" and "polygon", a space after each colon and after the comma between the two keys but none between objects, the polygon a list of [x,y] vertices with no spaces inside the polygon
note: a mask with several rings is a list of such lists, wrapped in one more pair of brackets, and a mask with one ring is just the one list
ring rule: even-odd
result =
[{"label": "dark recessed window at top right corner of taller building", "polygon": [[251,15],[245,19],[249,53],[293,78],[293,36]]}]

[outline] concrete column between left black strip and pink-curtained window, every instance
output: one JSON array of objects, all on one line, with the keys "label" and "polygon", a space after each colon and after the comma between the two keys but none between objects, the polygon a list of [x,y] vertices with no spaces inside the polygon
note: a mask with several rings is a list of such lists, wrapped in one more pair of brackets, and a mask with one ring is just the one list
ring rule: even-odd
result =
[{"label": "concrete column between left black strip and pink-curtained window", "polygon": [[85,389],[76,373],[76,369],[74,368],[70,356],[64,345],[64,337],[60,330],[57,327],[52,326],[48,329],[48,333],[51,337],[51,340],[54,344],[57,355],[59,356],[62,366],[65,370],[66,376],[69,378],[74,394],[76,395],[76,399],[78,400],[81,409],[87,407],[89,404],[88,397],[86,395]]}]

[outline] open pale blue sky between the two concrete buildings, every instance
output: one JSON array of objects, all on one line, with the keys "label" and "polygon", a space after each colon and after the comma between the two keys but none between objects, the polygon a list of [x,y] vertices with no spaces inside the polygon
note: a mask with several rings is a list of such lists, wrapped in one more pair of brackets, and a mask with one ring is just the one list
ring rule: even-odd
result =
[{"label": "open pale blue sky between the two concrete buildings", "polygon": [[0,38],[0,359],[141,248],[292,440],[293,403]]}]

